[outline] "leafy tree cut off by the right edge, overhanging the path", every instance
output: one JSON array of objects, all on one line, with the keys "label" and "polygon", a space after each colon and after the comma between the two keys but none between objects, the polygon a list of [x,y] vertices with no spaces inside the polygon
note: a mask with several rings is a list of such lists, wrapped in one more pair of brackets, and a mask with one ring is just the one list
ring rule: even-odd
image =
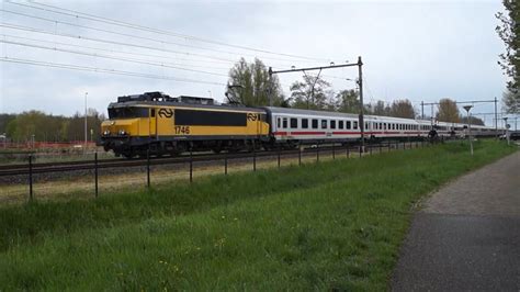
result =
[{"label": "leafy tree cut off by the right edge, overhanging the path", "polygon": [[509,113],[520,112],[520,3],[518,0],[504,0],[506,12],[498,12],[496,18],[500,21],[496,32],[506,45],[506,52],[499,55],[498,65],[509,80],[502,101]]}]

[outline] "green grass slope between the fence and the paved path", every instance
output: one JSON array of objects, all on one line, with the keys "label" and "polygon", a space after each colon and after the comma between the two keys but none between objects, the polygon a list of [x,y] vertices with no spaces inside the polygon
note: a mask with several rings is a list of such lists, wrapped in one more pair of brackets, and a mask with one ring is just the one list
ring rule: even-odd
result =
[{"label": "green grass slope between the fence and the paved path", "polygon": [[0,290],[385,290],[412,205],[515,151],[465,143],[0,209]]}]

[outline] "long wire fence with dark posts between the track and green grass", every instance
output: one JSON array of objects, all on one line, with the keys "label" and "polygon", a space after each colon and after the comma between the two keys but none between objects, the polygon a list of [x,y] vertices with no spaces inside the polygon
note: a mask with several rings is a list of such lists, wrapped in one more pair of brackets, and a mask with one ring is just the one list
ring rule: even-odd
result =
[{"label": "long wire fence with dark posts between the track and green grass", "polygon": [[[27,157],[24,175],[9,181],[3,177],[4,184],[0,192],[0,203],[54,200],[74,194],[75,198],[98,198],[102,193],[122,191],[124,189],[151,188],[172,181],[185,180],[192,183],[195,179],[211,175],[229,175],[238,171],[257,171],[284,166],[302,166],[308,162],[319,162],[337,158],[361,158],[392,150],[407,150],[429,145],[420,141],[386,141],[377,144],[366,144],[362,149],[358,145],[315,144],[310,147],[296,149],[276,148],[270,151],[244,153],[241,155],[223,153],[222,155],[199,156],[192,153],[180,160],[151,159],[149,153],[146,159],[137,165],[125,167],[106,167],[98,153],[91,157],[88,165],[80,168],[38,169],[32,155]],[[122,160],[123,161],[123,160]],[[25,179],[24,179],[25,177]],[[2,179],[2,177],[0,177]],[[24,195],[25,194],[25,195]]]}]

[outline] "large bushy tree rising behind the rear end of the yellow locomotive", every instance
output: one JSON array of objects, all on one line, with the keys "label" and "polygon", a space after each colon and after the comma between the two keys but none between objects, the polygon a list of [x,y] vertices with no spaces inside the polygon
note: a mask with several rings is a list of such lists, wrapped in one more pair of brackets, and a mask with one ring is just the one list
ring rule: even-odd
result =
[{"label": "large bushy tree rising behind the rear end of the yellow locomotive", "polygon": [[247,106],[269,105],[271,97],[273,105],[286,105],[278,76],[270,78],[268,68],[257,58],[252,64],[240,58],[229,70],[227,86],[226,96],[229,102]]}]

